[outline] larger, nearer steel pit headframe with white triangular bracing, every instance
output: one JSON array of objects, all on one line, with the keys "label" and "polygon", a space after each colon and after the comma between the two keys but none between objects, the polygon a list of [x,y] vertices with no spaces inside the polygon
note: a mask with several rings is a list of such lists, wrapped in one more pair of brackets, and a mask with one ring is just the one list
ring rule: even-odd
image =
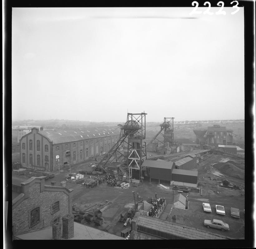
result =
[{"label": "larger, nearer steel pit headframe with white triangular bracing", "polygon": [[[120,137],[116,144],[97,164],[96,169],[108,172],[109,167],[116,167],[126,178],[132,179],[132,173],[139,171],[142,178],[141,165],[146,159],[146,113],[127,113],[127,120],[120,128]],[[124,148],[120,150],[120,148]],[[136,174],[138,175],[138,174]]]}]

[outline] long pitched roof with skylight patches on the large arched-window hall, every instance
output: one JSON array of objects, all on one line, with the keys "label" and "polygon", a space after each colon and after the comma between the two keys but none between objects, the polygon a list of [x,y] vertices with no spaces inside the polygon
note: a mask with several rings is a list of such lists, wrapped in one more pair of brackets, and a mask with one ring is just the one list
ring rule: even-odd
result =
[{"label": "long pitched roof with skylight patches on the large arched-window hall", "polygon": [[[97,132],[96,132],[97,130]],[[39,134],[46,136],[53,144],[79,141],[104,137],[109,135],[120,135],[120,126],[99,127],[99,128],[77,128],[77,129],[56,129],[40,130]]]}]

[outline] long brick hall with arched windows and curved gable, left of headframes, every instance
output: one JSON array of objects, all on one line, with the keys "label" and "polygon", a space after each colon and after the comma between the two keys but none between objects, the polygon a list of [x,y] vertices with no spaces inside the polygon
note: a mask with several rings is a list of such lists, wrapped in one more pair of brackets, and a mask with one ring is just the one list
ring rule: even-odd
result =
[{"label": "long brick hall with arched windows and curved gable, left of headframes", "polygon": [[56,130],[32,128],[20,139],[20,162],[23,167],[54,171],[105,154],[119,137],[119,126]]}]

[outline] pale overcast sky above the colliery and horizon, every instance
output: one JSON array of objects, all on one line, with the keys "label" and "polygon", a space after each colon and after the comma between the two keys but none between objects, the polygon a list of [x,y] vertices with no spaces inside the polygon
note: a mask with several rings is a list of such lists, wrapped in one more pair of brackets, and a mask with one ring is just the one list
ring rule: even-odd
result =
[{"label": "pale overcast sky above the colliery and horizon", "polygon": [[193,9],[13,8],[12,120],[243,119],[244,10]]}]

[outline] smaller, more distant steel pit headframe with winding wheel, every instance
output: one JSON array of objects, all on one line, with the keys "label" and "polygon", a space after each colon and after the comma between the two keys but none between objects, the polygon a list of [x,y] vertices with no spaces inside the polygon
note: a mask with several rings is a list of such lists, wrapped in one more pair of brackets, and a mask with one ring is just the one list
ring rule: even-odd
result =
[{"label": "smaller, more distant steel pit headframe with winding wheel", "polygon": [[164,122],[160,125],[160,131],[154,136],[154,138],[148,143],[150,144],[159,144],[160,146],[165,146],[166,142],[169,145],[174,144],[174,118],[164,118]]}]

